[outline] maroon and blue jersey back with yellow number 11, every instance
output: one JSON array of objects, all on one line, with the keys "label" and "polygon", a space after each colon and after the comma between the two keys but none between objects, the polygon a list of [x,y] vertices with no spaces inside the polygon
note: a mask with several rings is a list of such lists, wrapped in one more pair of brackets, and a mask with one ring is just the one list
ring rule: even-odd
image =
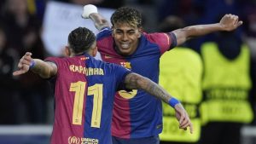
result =
[{"label": "maroon and blue jersey back with yellow number 11", "polygon": [[111,143],[113,96],[129,71],[90,55],[47,60],[58,67],[51,143]]}]

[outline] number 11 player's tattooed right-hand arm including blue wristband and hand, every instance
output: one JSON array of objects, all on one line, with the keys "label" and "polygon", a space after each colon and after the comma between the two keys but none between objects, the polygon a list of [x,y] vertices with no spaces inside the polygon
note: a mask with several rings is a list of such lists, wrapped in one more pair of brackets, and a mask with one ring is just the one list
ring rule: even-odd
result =
[{"label": "number 11 player's tattooed right-hand arm including blue wristband and hand", "polygon": [[187,130],[187,127],[189,127],[190,133],[193,133],[193,124],[190,121],[188,112],[186,112],[177,99],[169,95],[159,84],[155,84],[152,80],[139,74],[130,73],[125,77],[125,87],[126,89],[143,89],[149,94],[165,101],[175,109],[176,117],[179,121],[179,128]]}]

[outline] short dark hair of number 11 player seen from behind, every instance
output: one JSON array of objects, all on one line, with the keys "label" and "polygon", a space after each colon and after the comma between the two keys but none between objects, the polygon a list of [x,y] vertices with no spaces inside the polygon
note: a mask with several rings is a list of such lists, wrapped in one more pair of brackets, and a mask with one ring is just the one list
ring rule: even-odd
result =
[{"label": "short dark hair of number 11 player seen from behind", "polygon": [[95,41],[95,34],[85,27],[76,28],[68,35],[69,47],[75,54],[87,52]]}]

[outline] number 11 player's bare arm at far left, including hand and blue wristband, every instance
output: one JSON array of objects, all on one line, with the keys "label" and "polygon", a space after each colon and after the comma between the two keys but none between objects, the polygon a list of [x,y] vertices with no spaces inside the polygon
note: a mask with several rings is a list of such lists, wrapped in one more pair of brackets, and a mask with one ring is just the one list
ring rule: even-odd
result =
[{"label": "number 11 player's bare arm at far left, including hand and blue wristband", "polygon": [[44,60],[32,59],[32,53],[26,54],[20,59],[18,64],[19,70],[13,72],[14,76],[18,76],[32,70],[41,78],[51,78],[57,73],[57,66],[52,62],[45,62]]}]

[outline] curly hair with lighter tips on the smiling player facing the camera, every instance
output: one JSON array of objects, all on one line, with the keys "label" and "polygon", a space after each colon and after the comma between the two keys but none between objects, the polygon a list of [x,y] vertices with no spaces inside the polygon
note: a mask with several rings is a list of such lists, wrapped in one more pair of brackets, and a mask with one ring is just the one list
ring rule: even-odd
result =
[{"label": "curly hair with lighter tips on the smiling player facing the camera", "polygon": [[111,23],[113,26],[117,23],[127,23],[130,26],[141,27],[143,17],[137,9],[121,7],[112,14]]}]

